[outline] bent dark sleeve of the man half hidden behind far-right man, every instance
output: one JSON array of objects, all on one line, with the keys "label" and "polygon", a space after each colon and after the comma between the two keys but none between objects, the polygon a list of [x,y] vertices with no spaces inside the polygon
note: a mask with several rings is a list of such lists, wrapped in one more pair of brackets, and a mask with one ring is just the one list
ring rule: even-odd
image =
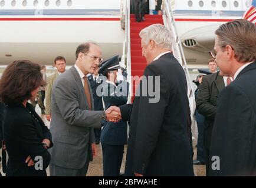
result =
[{"label": "bent dark sleeve of the man half hidden behind far-right man", "polygon": [[199,86],[198,95],[196,96],[196,110],[205,116],[214,120],[216,115],[216,106],[210,103],[211,91],[209,88],[208,80],[202,78],[202,83]]}]

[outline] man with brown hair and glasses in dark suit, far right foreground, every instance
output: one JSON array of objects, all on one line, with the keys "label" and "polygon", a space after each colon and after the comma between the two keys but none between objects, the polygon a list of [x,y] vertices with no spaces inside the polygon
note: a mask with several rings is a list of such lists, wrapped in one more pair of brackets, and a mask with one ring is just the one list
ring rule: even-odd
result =
[{"label": "man with brown hair and glasses in dark suit, far right foreground", "polygon": [[215,31],[213,58],[231,82],[218,97],[210,147],[211,176],[256,175],[256,25],[245,19]]}]

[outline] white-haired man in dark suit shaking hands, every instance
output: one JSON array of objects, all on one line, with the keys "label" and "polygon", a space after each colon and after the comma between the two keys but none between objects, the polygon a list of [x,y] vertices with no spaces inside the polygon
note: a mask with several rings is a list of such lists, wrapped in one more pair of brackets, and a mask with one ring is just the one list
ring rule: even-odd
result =
[{"label": "white-haired man in dark suit shaking hands", "polygon": [[[161,24],[153,24],[140,31],[140,38],[148,65],[133,105],[107,110],[120,112],[123,120],[129,120],[125,174],[193,176],[187,82],[171,52],[170,32]],[[145,85],[156,91],[155,96]]]}]

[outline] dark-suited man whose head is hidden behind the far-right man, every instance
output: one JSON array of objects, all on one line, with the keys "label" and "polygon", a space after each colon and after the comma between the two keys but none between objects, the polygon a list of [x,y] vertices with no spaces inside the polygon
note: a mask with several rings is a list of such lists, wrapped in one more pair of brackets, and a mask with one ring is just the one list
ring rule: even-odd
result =
[{"label": "dark-suited man whose head is hidden behind the far-right man", "polygon": [[206,176],[209,173],[209,149],[211,146],[212,127],[216,115],[216,104],[219,92],[225,88],[224,79],[219,72],[202,78],[196,95],[196,110],[205,117],[204,146],[206,154]]}]

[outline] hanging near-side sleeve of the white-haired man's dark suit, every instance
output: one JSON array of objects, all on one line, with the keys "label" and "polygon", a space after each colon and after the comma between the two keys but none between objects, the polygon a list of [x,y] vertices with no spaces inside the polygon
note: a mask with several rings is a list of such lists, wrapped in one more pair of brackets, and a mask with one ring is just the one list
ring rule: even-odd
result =
[{"label": "hanging near-side sleeve of the white-haired man's dark suit", "polygon": [[[137,126],[136,141],[134,142],[134,159],[136,160],[133,163],[133,172],[140,174],[145,174],[150,156],[156,147],[170,95],[169,84],[166,84],[165,76],[162,75],[156,65],[147,66],[144,75],[153,76],[155,79],[159,78],[157,75],[160,75],[160,83],[153,82],[153,90],[157,93],[158,89],[160,96],[158,102],[150,102],[152,97],[149,96],[148,91],[147,96],[143,96],[140,93],[139,112],[142,113],[140,113],[140,118],[137,120],[137,125],[139,126]],[[148,77],[146,78],[148,85],[150,85]],[[141,91],[142,82],[140,82]]]}]

